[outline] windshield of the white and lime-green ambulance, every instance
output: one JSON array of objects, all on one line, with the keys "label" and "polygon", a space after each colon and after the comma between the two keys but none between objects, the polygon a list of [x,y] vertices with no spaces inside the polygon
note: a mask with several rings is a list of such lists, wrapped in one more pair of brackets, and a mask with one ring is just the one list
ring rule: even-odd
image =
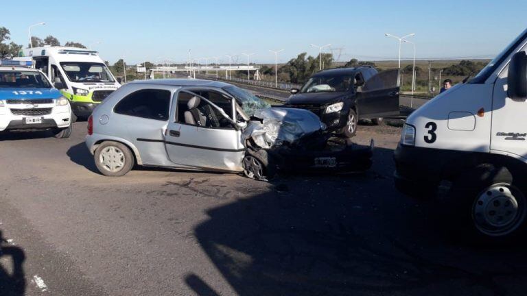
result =
[{"label": "windshield of the white and lime-green ambulance", "polygon": [[71,82],[114,82],[105,64],[94,62],[61,62]]}]

